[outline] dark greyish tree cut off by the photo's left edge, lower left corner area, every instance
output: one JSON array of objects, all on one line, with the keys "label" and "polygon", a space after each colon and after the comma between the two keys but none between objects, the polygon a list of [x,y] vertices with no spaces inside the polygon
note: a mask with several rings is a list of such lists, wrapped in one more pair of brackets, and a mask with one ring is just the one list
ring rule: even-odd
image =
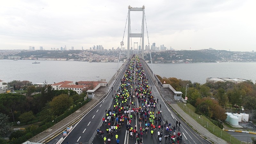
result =
[{"label": "dark greyish tree cut off by the photo's left edge, lower left corner area", "polygon": [[12,131],[12,124],[8,121],[9,117],[3,113],[0,113],[0,138],[5,137]]}]

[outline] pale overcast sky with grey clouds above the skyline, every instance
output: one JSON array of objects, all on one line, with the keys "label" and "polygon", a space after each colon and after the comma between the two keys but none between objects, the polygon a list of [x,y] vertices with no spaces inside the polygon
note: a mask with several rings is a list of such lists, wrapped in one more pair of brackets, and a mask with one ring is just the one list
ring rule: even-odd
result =
[{"label": "pale overcast sky with grey clouds above the skyline", "polygon": [[[255,0],[5,0],[0,4],[0,49],[116,49],[128,5],[145,5],[150,45],[256,51]],[[132,33],[140,33],[141,21],[142,12],[131,12]],[[140,38],[132,38],[132,46],[134,42],[140,45]]]}]

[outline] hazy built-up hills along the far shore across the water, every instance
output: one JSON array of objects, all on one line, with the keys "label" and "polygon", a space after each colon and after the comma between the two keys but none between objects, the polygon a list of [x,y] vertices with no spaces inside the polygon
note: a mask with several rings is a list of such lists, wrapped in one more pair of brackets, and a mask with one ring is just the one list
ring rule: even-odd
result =
[{"label": "hazy built-up hills along the far shore across the water", "polygon": [[[118,59],[117,50],[68,50],[68,51],[28,51],[28,50],[0,50],[0,56],[20,56],[21,59],[33,58],[62,58],[79,61],[112,62]],[[131,51],[130,54],[133,52]],[[127,51],[121,51],[120,59],[126,59]],[[153,63],[198,63],[198,62],[249,62],[256,61],[256,52],[230,52],[225,50],[181,50],[181,51],[151,51]],[[149,51],[145,51],[144,59],[150,61]]]}]

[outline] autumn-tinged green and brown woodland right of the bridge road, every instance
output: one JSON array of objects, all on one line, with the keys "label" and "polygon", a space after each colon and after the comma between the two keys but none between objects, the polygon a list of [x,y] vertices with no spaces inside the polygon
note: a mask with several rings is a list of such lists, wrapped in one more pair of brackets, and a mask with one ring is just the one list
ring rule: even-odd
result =
[{"label": "autumn-tinged green and brown woodland right of the bridge road", "polygon": [[171,84],[176,91],[183,93],[185,98],[186,86],[188,103],[196,108],[198,114],[203,114],[215,120],[225,120],[225,108],[251,111],[256,109],[256,84],[250,81],[242,83],[233,82],[207,82],[205,84],[191,83],[174,77],[157,76],[166,84]]}]

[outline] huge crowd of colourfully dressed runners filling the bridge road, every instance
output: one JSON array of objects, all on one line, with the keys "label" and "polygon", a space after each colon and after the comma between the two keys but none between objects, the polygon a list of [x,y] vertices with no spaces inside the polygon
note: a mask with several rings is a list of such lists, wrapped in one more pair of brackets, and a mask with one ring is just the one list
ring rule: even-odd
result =
[{"label": "huge crowd of colourfully dressed runners filling the bridge road", "polygon": [[131,58],[120,81],[119,88],[112,95],[114,104],[106,110],[97,136],[104,143],[119,144],[118,134],[125,134],[120,133],[120,130],[126,129],[129,139],[137,144],[143,144],[143,138],[149,138],[147,135],[157,135],[159,143],[181,143],[182,134],[177,132],[180,122],[176,121],[174,125],[162,119],[161,105],[152,95],[152,87],[148,84],[138,56]]}]

